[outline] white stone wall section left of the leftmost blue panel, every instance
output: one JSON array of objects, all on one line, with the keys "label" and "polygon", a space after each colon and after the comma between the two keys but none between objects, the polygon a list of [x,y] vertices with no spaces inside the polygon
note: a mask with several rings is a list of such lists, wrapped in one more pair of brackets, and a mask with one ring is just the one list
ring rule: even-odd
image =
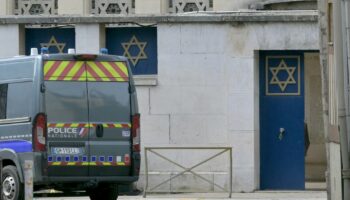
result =
[{"label": "white stone wall section left of the leftmost blue panel", "polygon": [[6,37],[0,37],[0,44],[3,47],[9,47],[9,48],[0,48],[0,58],[25,54],[24,33],[25,33],[25,30],[23,25],[18,25],[18,24],[0,25],[0,35],[6,36]]}]

